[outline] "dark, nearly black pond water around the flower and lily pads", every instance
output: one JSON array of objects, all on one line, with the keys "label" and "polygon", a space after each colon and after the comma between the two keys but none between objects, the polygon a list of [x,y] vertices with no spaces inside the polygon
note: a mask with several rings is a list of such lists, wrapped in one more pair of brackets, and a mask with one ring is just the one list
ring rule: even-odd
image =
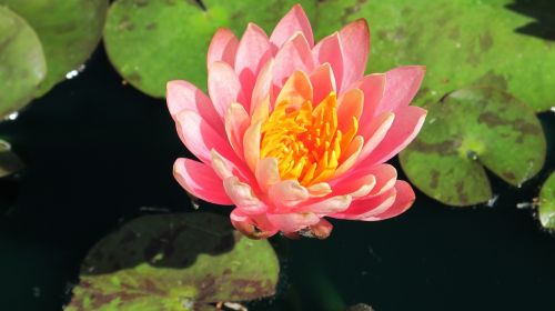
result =
[{"label": "dark, nearly black pond water around the flower and lily pads", "polygon": [[[325,241],[274,238],[279,293],[250,310],[554,310],[555,239],[515,208],[555,167],[555,114],[541,119],[548,161],[522,189],[493,178],[494,207],[447,208],[417,193],[404,215],[335,221]],[[0,310],[61,310],[103,235],[144,207],[193,210],[171,174],[190,153],[164,101],[122,84],[102,48],[83,73],[0,124],[0,137],[28,164],[0,180]]]}]

